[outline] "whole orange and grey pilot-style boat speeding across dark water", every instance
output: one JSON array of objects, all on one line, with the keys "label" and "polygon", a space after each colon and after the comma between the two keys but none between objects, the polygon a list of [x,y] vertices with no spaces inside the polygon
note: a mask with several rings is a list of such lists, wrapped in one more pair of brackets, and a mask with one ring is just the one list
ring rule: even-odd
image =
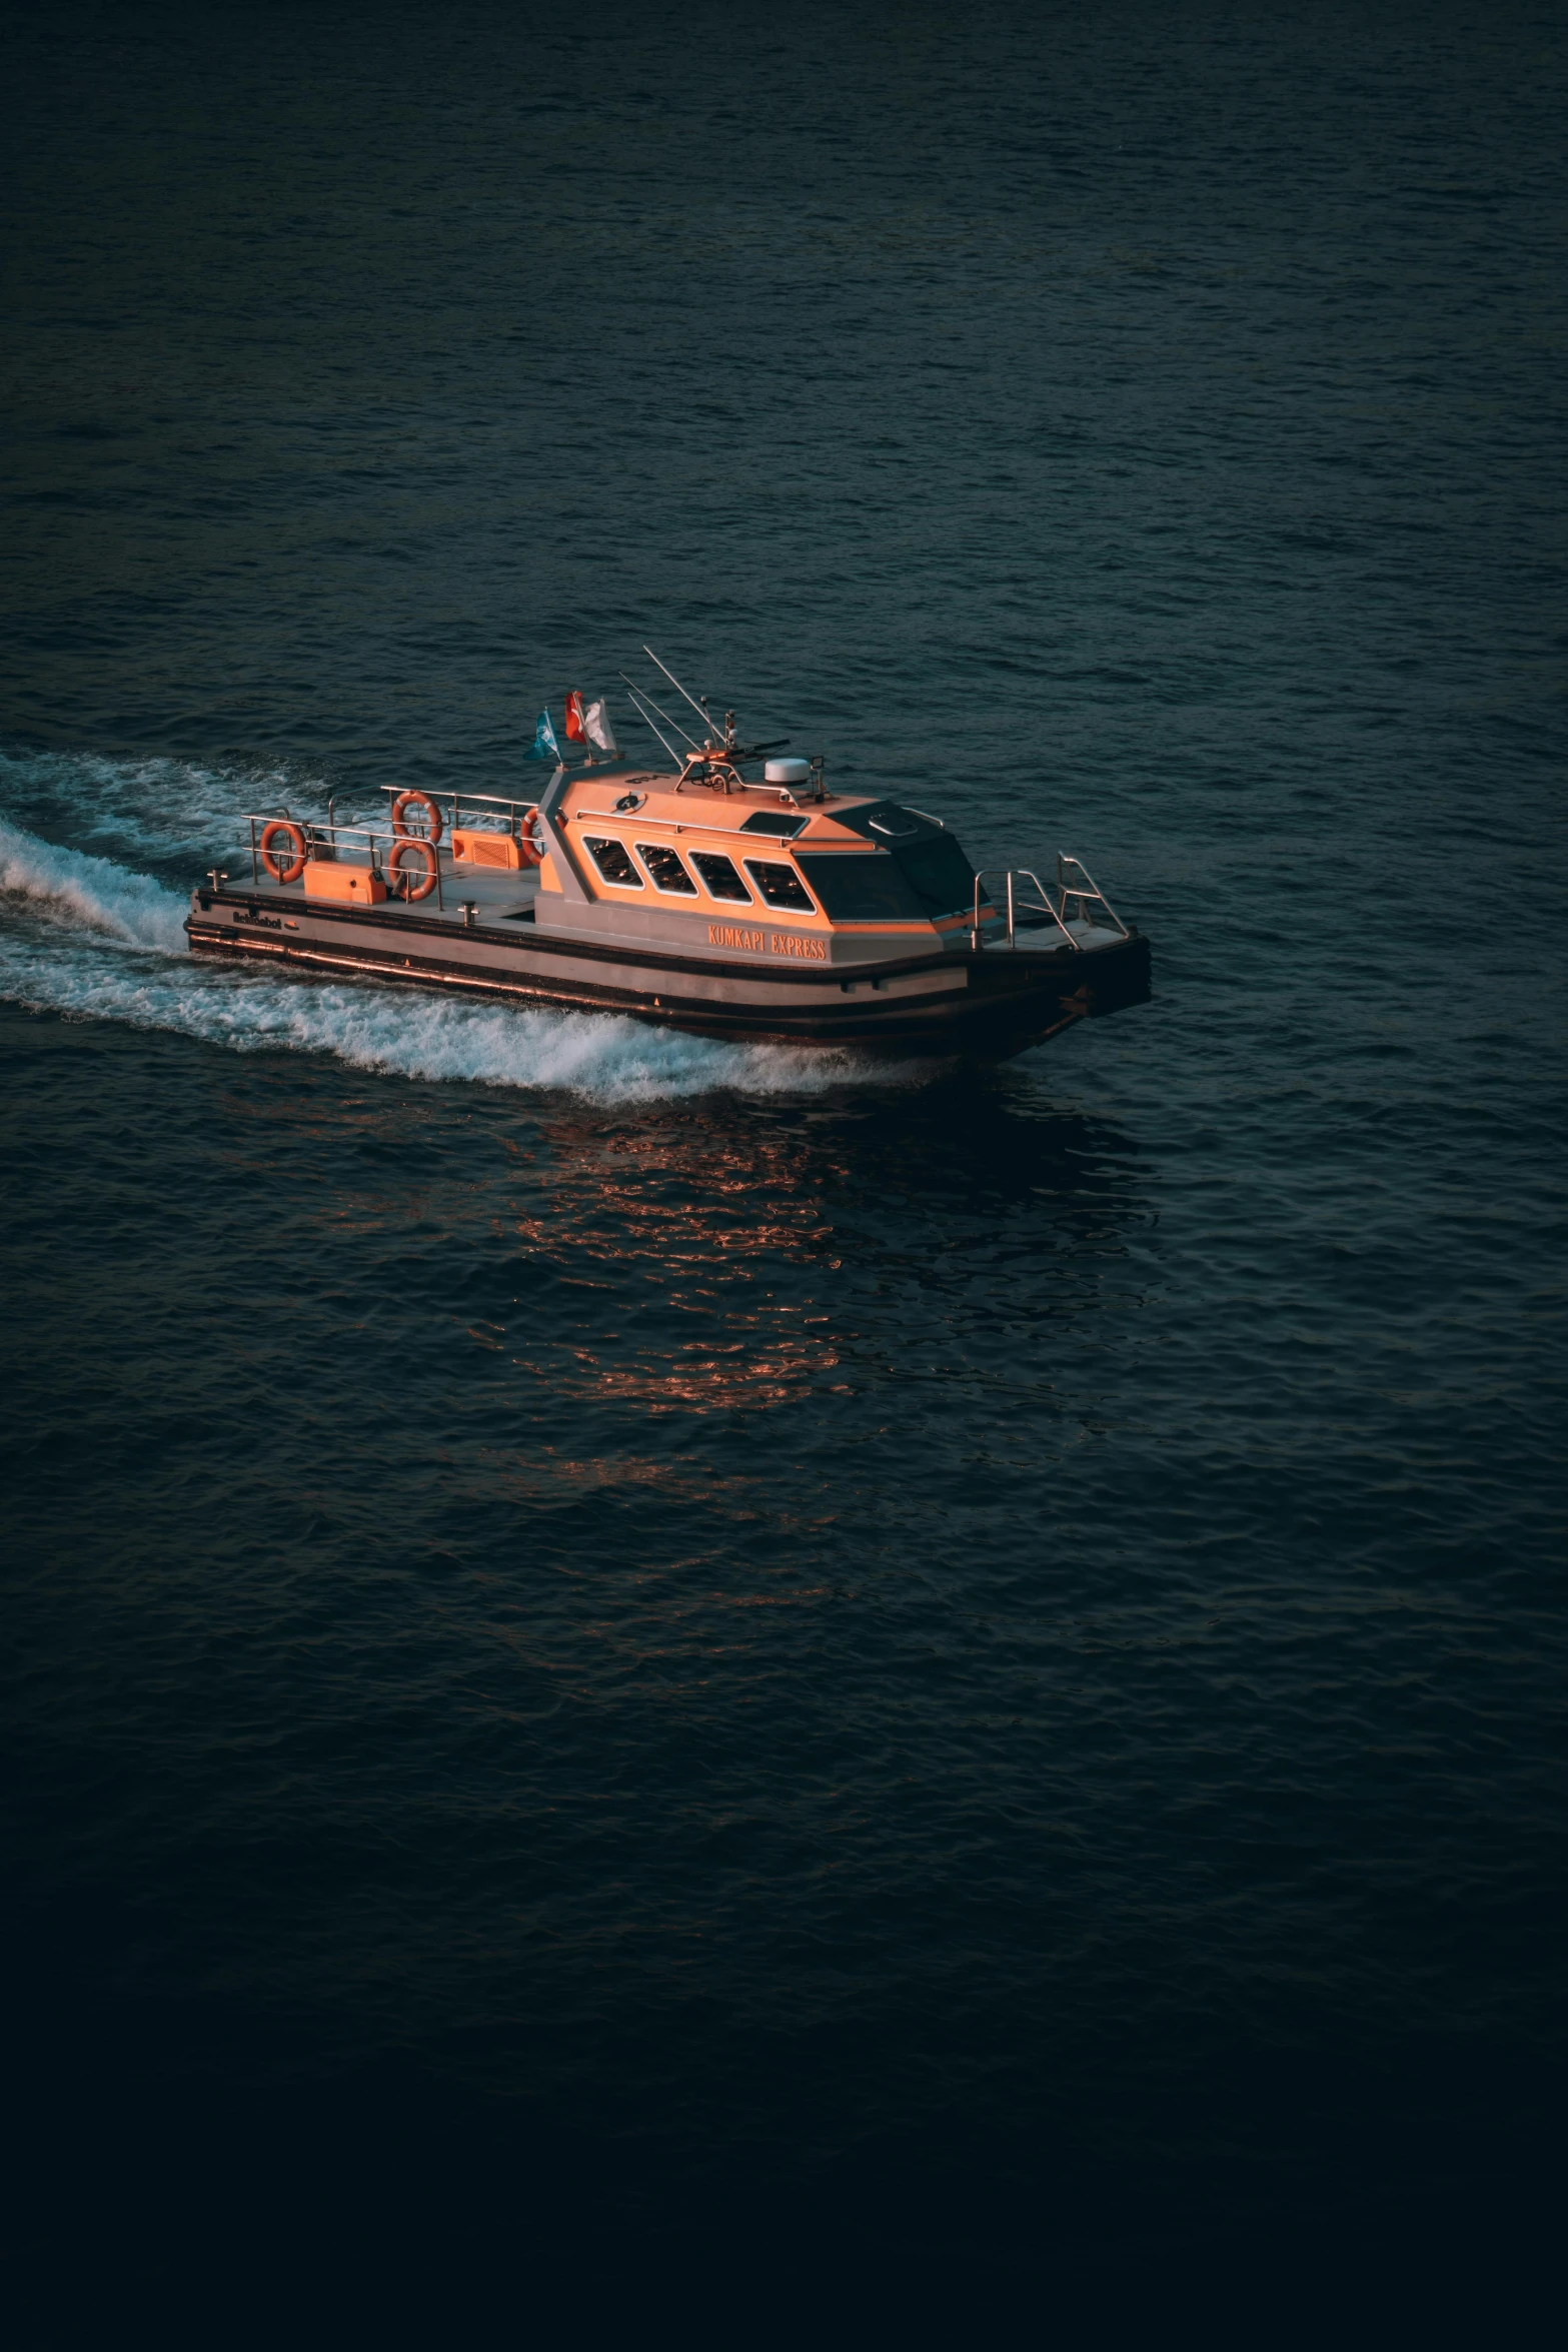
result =
[{"label": "whole orange and grey pilot-style boat speeding across dark water", "polygon": [[665,755],[651,767],[621,757],[604,703],[585,734],[571,696],[585,755],[559,750],[545,713],[557,764],[534,800],[386,786],[374,821],[339,821],[334,802],[320,821],[247,816],[249,877],[212,868],[193,889],[193,953],[736,1042],[978,1061],[1147,1002],[1150,943],[1077,856],[1058,851],[1048,880],[980,870],[945,818],[900,793],[830,790],[823,757],[738,743],[733,713],[710,720],[663,675],[703,734],[632,691]]}]

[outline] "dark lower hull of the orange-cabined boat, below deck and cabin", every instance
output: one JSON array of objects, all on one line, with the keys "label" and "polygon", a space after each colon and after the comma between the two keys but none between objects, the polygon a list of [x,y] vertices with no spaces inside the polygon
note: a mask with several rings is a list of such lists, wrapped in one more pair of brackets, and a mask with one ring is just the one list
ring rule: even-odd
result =
[{"label": "dark lower hull of the orange-cabined boat, below deck and cabin", "polygon": [[350,908],[292,891],[197,891],[186,920],[197,955],[270,957],[320,976],[609,1011],[738,1044],[853,1047],[891,1056],[1004,1061],[1150,995],[1150,943],[990,946],[884,964],[778,969],[611,946],[534,922],[454,924],[416,908]]}]

